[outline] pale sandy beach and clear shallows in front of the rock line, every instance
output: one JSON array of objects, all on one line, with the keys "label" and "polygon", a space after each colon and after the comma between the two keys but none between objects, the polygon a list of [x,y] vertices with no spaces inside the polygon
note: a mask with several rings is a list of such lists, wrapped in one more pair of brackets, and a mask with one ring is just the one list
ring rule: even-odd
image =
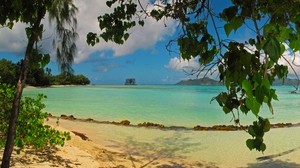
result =
[{"label": "pale sandy beach and clear shallows in front of the rock line", "polygon": [[63,119],[57,125],[54,118],[46,124],[89,140],[71,133],[64,147],[14,154],[13,167],[300,167],[299,127],[271,130],[262,154],[246,148],[243,131],[164,131]]}]

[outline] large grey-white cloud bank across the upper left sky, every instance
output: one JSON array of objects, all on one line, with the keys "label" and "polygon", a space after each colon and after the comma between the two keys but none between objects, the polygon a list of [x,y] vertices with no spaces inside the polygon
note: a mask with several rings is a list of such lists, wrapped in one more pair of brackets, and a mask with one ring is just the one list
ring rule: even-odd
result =
[{"label": "large grey-white cloud bank across the upper left sky", "polygon": [[[89,56],[97,51],[111,50],[113,56],[119,57],[131,54],[139,49],[148,49],[174,32],[175,22],[172,20],[157,22],[154,19],[147,19],[144,27],[137,26],[129,31],[130,37],[124,45],[106,43],[104,40],[100,40],[99,44],[93,47],[88,46],[86,43],[86,35],[89,32],[100,32],[97,17],[111,12],[112,9],[105,5],[105,0],[75,0],[74,2],[79,9],[77,14],[79,39],[77,41],[78,52],[75,57],[75,63],[88,60]],[[147,2],[148,0],[143,0],[143,4]],[[151,5],[148,5],[148,7],[151,8]],[[44,28],[46,29],[43,35],[46,39],[42,41],[43,49],[53,54],[51,44],[53,38],[52,29],[54,27],[49,28],[47,18],[45,18],[43,22],[45,24]],[[167,24],[168,27],[166,28],[164,24]],[[27,42],[24,28],[25,25],[16,24],[12,31],[6,28],[0,29],[0,51],[24,52]]]}]

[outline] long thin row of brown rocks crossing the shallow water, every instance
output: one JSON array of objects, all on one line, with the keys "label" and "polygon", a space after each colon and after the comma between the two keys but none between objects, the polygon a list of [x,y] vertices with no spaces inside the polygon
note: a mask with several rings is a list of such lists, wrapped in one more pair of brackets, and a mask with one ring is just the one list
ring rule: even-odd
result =
[{"label": "long thin row of brown rocks crossing the shallow water", "polygon": [[[143,122],[138,124],[131,124],[129,120],[122,120],[119,122],[116,121],[99,121],[93,118],[76,118],[73,115],[64,115],[61,116],[54,116],[52,114],[48,114],[48,117],[54,119],[63,119],[63,120],[76,120],[80,122],[87,122],[87,123],[96,123],[96,124],[112,124],[117,126],[126,126],[126,127],[135,127],[135,128],[154,128],[154,129],[161,129],[161,130],[186,130],[186,131],[245,131],[248,129],[248,125],[213,125],[213,126],[200,126],[196,125],[194,127],[185,127],[185,126],[165,126],[159,123],[152,123],[152,122]],[[275,123],[271,124],[271,128],[290,128],[290,127],[300,127],[300,123]]]}]

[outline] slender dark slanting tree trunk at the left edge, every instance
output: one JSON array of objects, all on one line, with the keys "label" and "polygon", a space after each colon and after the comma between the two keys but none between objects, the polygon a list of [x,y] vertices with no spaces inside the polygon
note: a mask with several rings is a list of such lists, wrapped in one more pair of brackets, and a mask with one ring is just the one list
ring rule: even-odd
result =
[{"label": "slender dark slanting tree trunk at the left edge", "polygon": [[24,56],[24,62],[21,68],[19,80],[14,95],[1,168],[9,168],[10,165],[10,158],[14,148],[14,138],[15,138],[16,128],[17,128],[16,125],[17,125],[17,120],[18,120],[18,115],[20,110],[20,101],[22,98],[23,88],[25,85],[27,72],[29,69],[30,55],[32,53],[34,43],[38,41],[38,34],[39,34],[38,30],[41,24],[41,20],[43,19],[45,13],[46,13],[45,8],[42,7],[39,9],[37,20],[35,21],[35,23],[31,28],[31,35],[28,39],[26,52]]}]

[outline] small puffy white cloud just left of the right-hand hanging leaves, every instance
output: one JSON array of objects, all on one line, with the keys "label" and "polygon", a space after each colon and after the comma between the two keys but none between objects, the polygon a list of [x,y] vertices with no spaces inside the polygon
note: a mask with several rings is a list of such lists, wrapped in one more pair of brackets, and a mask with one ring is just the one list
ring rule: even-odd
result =
[{"label": "small puffy white cloud just left of the right-hand hanging leaves", "polygon": [[165,65],[166,68],[174,71],[191,71],[199,68],[199,58],[191,58],[190,60],[184,60],[181,57],[171,58],[169,64]]}]

